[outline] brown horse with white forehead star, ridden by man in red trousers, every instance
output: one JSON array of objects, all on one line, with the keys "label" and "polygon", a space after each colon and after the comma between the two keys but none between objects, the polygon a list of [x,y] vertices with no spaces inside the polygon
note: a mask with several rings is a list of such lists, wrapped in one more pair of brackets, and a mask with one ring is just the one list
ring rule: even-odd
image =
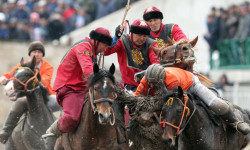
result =
[{"label": "brown horse with white forehead star, ridden by man in red trousers", "polygon": [[94,65],[94,76],[90,82],[89,94],[85,103],[80,124],[72,134],[64,133],[58,138],[55,149],[65,150],[116,150],[115,116],[112,104],[114,93],[115,66],[109,71]]}]

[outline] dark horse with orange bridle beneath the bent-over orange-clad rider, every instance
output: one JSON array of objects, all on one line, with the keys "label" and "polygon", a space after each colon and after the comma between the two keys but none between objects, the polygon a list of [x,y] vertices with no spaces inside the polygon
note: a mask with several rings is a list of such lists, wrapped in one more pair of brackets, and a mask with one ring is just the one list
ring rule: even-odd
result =
[{"label": "dark horse with orange bridle beneath the bent-over orange-clad rider", "polygon": [[[245,146],[246,136],[220,120],[215,124],[209,111],[200,105],[201,100],[190,100],[191,97],[184,98],[178,87],[162,107],[160,123],[166,143],[178,145],[179,150],[240,150]],[[235,106],[235,111],[249,122],[242,109]]]}]

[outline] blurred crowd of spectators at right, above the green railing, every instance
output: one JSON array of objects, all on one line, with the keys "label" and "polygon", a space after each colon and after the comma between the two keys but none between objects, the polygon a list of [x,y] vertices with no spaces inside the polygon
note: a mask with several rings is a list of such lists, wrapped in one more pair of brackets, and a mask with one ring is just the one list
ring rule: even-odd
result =
[{"label": "blurred crowd of spectators at right, above the green railing", "polygon": [[208,32],[204,38],[209,44],[211,53],[217,50],[217,41],[245,40],[250,37],[250,3],[231,5],[229,8],[212,7],[206,24]]}]

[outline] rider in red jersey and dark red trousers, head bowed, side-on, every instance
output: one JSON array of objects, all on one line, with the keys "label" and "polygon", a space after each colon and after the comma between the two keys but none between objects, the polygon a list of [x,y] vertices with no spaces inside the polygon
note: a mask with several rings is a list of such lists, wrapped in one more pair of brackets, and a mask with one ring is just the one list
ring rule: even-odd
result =
[{"label": "rider in red jersey and dark red trousers, head bowed, side-on", "polygon": [[93,63],[97,62],[97,55],[112,44],[109,30],[102,27],[92,30],[89,37],[73,45],[57,69],[53,90],[57,92],[57,102],[63,107],[64,114],[43,136],[48,150],[54,150],[53,139],[75,131],[85,103],[87,80],[93,74]]}]

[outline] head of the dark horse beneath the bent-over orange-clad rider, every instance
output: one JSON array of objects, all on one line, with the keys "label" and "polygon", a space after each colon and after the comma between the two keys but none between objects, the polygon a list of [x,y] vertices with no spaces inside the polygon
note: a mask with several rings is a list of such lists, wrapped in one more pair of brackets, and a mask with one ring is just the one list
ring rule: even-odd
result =
[{"label": "head of the dark horse beneath the bent-over orange-clad rider", "polygon": [[162,140],[174,147],[176,137],[181,133],[190,110],[187,107],[188,99],[184,98],[181,87],[173,89],[170,93],[161,110],[160,125],[163,128]]}]

